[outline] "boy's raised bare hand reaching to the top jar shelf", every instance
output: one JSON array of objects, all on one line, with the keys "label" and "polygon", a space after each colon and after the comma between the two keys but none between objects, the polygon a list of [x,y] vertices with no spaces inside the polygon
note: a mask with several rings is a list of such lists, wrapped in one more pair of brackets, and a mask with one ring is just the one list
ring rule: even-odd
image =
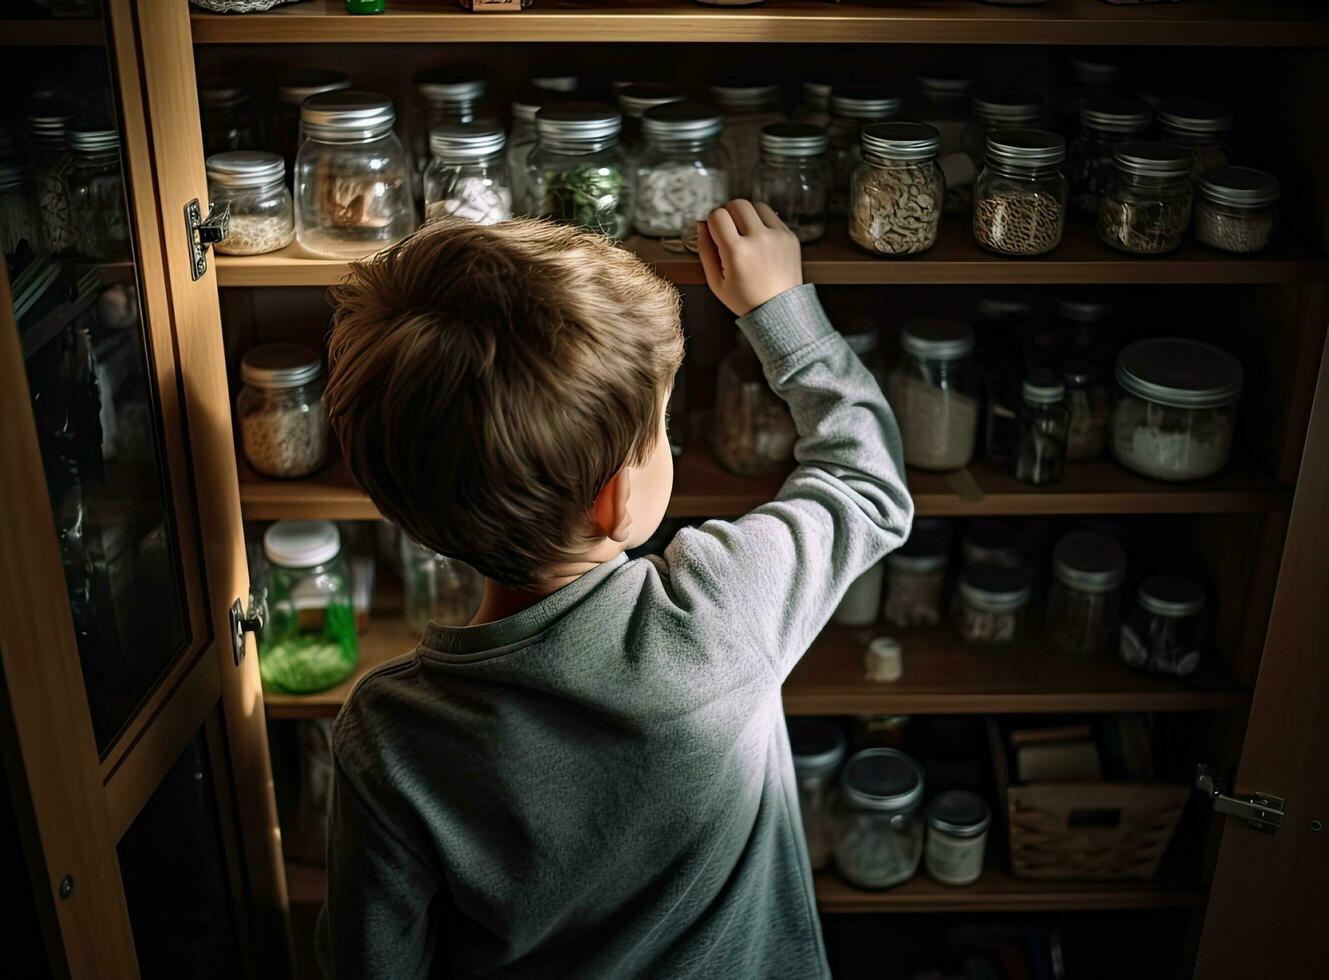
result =
[{"label": "boy's raised bare hand reaching to the top jar shelf", "polygon": [[735,316],[803,285],[799,239],[768,205],[738,198],[698,225],[706,282]]}]

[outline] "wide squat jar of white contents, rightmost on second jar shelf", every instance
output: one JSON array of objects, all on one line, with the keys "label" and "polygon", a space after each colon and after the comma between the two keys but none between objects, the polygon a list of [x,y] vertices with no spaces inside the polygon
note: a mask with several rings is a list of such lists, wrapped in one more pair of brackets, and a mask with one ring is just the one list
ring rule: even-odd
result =
[{"label": "wide squat jar of white contents, rightmost on second jar shelf", "polygon": [[1228,464],[1241,363],[1199,340],[1138,340],[1116,359],[1112,457],[1155,480],[1203,480]]}]

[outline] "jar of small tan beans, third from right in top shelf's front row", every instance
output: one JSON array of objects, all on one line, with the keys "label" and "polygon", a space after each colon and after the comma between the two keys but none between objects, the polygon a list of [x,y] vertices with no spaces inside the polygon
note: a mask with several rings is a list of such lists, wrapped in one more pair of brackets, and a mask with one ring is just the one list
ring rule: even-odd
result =
[{"label": "jar of small tan beans, third from right in top shelf's front row", "polygon": [[998,129],[974,184],[974,241],[999,255],[1042,255],[1062,241],[1066,141],[1039,129]]}]

